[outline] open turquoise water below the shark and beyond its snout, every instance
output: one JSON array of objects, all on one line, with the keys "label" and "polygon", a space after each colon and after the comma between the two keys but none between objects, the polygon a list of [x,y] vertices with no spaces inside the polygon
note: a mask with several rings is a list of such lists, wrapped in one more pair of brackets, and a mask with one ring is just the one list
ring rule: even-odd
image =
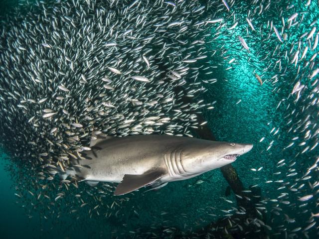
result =
[{"label": "open turquoise water below the shark and beyond its snout", "polygon": [[[299,1],[295,1],[295,3],[296,8],[301,12],[304,6]],[[270,16],[275,15],[276,4],[272,5],[270,9],[272,14],[269,13]],[[318,17],[318,5],[315,5],[316,2],[314,1],[312,4],[314,9],[317,10],[317,15],[316,11],[308,15],[309,22],[306,21],[305,25],[309,25],[316,16]],[[10,4],[5,3],[5,5],[9,7]],[[241,7],[247,7],[247,4],[241,2],[232,6],[234,9],[240,9]],[[294,12],[287,10],[283,14],[287,19],[292,13]],[[226,14],[227,12],[221,11],[217,17],[224,17]],[[246,15],[243,14],[239,21],[244,22],[245,18]],[[277,26],[281,24],[280,18],[273,19],[274,24]],[[262,18],[260,21],[263,21],[265,25],[267,24],[267,18]],[[293,28],[291,30],[292,37],[288,39],[288,42],[290,44],[294,42],[305,29],[310,31],[312,27]],[[267,235],[270,238],[276,238],[278,235],[274,234],[278,232],[278,227],[280,229],[281,225],[292,231],[302,222],[309,220],[310,212],[308,214],[307,212],[304,213],[304,208],[317,212],[315,208],[316,198],[304,207],[300,207],[302,203],[298,201],[299,197],[312,192],[307,185],[309,181],[305,181],[305,191],[296,194],[291,193],[290,197],[285,199],[285,201],[279,200],[280,203],[267,200],[277,199],[280,193],[286,192],[282,191],[282,189],[278,190],[282,186],[281,182],[266,182],[269,180],[284,180],[290,183],[289,186],[295,182],[299,183],[299,178],[315,162],[316,156],[318,156],[318,149],[301,154],[304,147],[297,146],[297,143],[287,150],[284,150],[284,148],[291,142],[292,137],[298,135],[302,138],[305,134],[305,132],[294,133],[289,131],[291,126],[287,124],[289,119],[292,118],[294,123],[297,124],[299,119],[303,120],[310,114],[315,123],[318,120],[316,115],[318,109],[315,105],[313,108],[303,110],[304,106],[309,105],[310,100],[308,100],[307,96],[310,95],[309,91],[314,87],[311,87],[310,83],[301,77],[301,74],[297,73],[298,69],[293,65],[283,61],[282,64],[288,66],[287,74],[281,76],[279,83],[276,84],[272,77],[278,73],[277,68],[272,67],[265,72],[262,71],[269,63],[277,60],[275,57],[262,60],[278,43],[276,35],[272,34],[271,38],[262,43],[261,40],[263,38],[257,38],[258,35],[252,33],[250,37],[246,38],[251,49],[251,53],[247,53],[238,44],[237,36],[242,34],[241,30],[240,27],[236,28],[236,31],[224,29],[221,34],[224,35],[224,38],[221,37],[219,39],[220,44],[217,40],[205,45],[210,55],[212,55],[214,49],[220,49],[221,45],[225,45],[225,48],[229,50],[228,55],[230,57],[223,59],[222,50],[218,50],[215,56],[209,57],[209,62],[203,63],[205,66],[211,67],[213,73],[209,75],[200,73],[199,78],[216,78],[217,82],[205,85],[207,91],[201,93],[199,98],[203,99],[205,103],[216,101],[213,104],[215,108],[203,110],[202,115],[208,121],[207,125],[217,140],[254,143],[252,151],[238,158],[233,163],[233,166],[236,168],[246,188],[251,185],[258,185],[257,187],[261,189],[262,200],[266,200],[265,207],[269,210],[265,221],[267,225],[271,224],[273,228],[273,232],[267,231]],[[264,31],[267,32],[266,30]],[[207,37],[207,41],[214,37],[213,30],[211,35]],[[232,44],[234,42],[237,43],[236,47]],[[289,44],[282,46],[281,52],[290,49],[290,47]],[[258,51],[261,51],[261,53],[257,57]],[[232,57],[236,57],[235,65],[228,63]],[[307,59],[309,60],[310,57],[311,55],[307,56]],[[213,68],[214,66],[217,66],[217,68]],[[230,66],[233,66],[233,69],[226,70]],[[256,79],[254,70],[263,79],[262,86]],[[308,71],[307,68],[305,71]],[[294,105],[295,97],[290,94],[294,89],[296,79],[299,79],[296,76],[299,76],[301,81],[306,82],[304,84],[308,84],[309,90],[305,91],[299,103]],[[281,90],[276,92],[278,89]],[[278,107],[282,99],[285,99],[285,101]],[[241,102],[238,103],[239,100]],[[296,118],[293,116],[287,117],[291,109],[287,110],[289,104],[294,105],[291,108],[295,107],[296,111],[300,112]],[[274,127],[275,130],[270,133]],[[279,132],[274,135],[278,128]],[[312,131],[316,131],[316,128],[314,127]],[[265,137],[265,139],[259,142],[262,137]],[[267,150],[273,140],[273,146]],[[315,136],[313,140],[317,140],[317,137]],[[298,143],[301,142],[302,140],[298,141]],[[308,142],[311,146],[313,143],[313,141]],[[278,167],[278,162],[282,159],[285,159],[287,164]],[[5,217],[1,217],[0,225],[1,234],[4,235],[4,238],[79,239],[88,237],[115,238],[117,236],[119,238],[147,238],[146,235],[151,238],[152,232],[158,235],[159,238],[169,237],[170,235],[174,238],[173,233],[169,231],[167,233],[163,232],[165,229],[176,232],[176,238],[181,237],[181,235],[190,235],[189,237],[191,238],[195,237],[195,235],[190,234],[190,232],[197,230],[200,232],[202,227],[223,217],[225,213],[221,210],[229,210],[231,207],[236,207],[236,196],[232,192],[229,196],[225,195],[228,184],[220,170],[213,170],[193,179],[169,183],[156,192],[142,194],[139,191],[130,194],[128,197],[115,198],[110,196],[110,193],[107,193],[110,188],[112,189],[110,191],[114,190],[112,185],[111,187],[104,185],[98,188],[90,188],[88,185],[80,183],[79,189],[76,189],[75,187],[64,188],[63,186],[62,188],[54,188],[52,184],[49,184],[47,188],[41,189],[47,183],[44,180],[39,180],[39,185],[24,185],[28,180],[25,180],[23,173],[32,176],[32,170],[23,169],[23,167],[5,170],[4,165],[8,161],[1,159],[0,171],[1,192],[4,192],[0,195],[0,211],[5,215]],[[290,180],[287,174],[289,174],[288,170],[293,166],[288,167],[287,165],[294,161],[297,161],[295,168],[299,175]],[[21,164],[18,165],[21,166]],[[15,167],[14,164],[12,167]],[[260,169],[260,171],[257,171],[257,169]],[[13,173],[10,175],[8,171]],[[282,171],[282,173],[274,174],[278,171]],[[14,172],[17,174],[15,175]],[[318,180],[318,171],[315,171],[312,175],[314,180]],[[14,187],[19,184],[20,179],[23,179],[23,181],[22,185],[18,185],[18,193],[23,195],[22,200],[19,200],[14,195],[14,193],[17,193]],[[198,183],[198,180],[203,182]],[[33,183],[34,181],[30,180],[30,182]],[[57,179],[54,182],[55,185],[59,185]],[[32,191],[35,196],[31,195],[27,190]],[[56,193],[61,191],[67,192],[65,197],[54,200]],[[37,200],[36,197],[40,192],[40,200]],[[50,199],[43,198],[44,194],[49,196]],[[83,198],[83,202],[88,203],[88,205],[81,207],[83,202],[74,197],[76,194],[82,195],[81,199]],[[231,202],[225,201],[224,198]],[[18,203],[15,203],[15,201]],[[281,203],[281,201],[289,201],[289,204]],[[92,210],[97,205],[100,205],[99,209]],[[271,221],[273,217],[276,218],[271,213],[274,207],[281,208],[290,218],[295,218],[298,225],[296,223],[280,222],[284,221],[283,215],[281,215],[281,218],[277,218],[277,221]],[[76,212],[72,213],[72,210],[76,210]],[[301,227],[304,229],[307,225],[309,223]],[[316,226],[318,227],[318,225]],[[311,238],[316,238],[316,231],[316,228],[312,229],[309,234]],[[226,236],[222,237],[227,238]],[[298,237],[305,236],[298,234],[296,238]],[[199,238],[204,237],[201,235]]]}]

